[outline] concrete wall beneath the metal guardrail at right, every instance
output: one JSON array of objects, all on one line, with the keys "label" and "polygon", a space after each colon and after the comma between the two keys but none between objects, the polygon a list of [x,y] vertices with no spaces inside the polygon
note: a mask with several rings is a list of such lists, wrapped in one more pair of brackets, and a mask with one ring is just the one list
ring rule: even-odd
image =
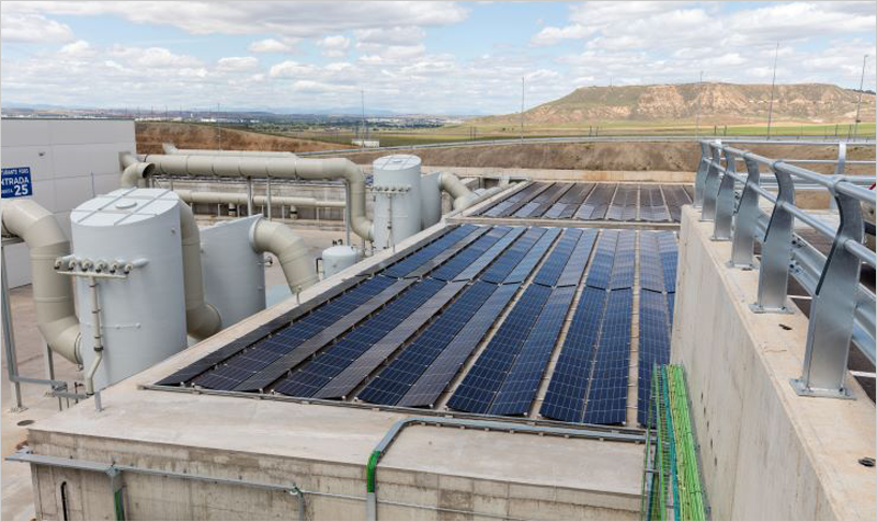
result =
[{"label": "concrete wall beneath the metal guardrail at right", "polygon": [[[875,407],[797,396],[807,318],[753,314],[758,271],[726,266],[730,242],[684,207],[672,359],[685,367],[716,520],[875,520]],[[793,306],[794,308],[794,306]]]}]

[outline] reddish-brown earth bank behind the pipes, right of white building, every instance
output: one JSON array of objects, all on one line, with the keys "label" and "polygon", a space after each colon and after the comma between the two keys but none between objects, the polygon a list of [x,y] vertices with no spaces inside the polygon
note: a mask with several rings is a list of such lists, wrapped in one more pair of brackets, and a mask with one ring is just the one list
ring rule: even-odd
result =
[{"label": "reddish-brown earth bank behind the pipes, right of white building", "polygon": [[217,129],[213,125],[186,123],[137,122],[135,133],[137,151],[140,154],[161,154],[161,144],[163,143],[172,143],[180,148],[187,149],[223,148],[226,150],[285,150],[289,152],[338,148],[338,145],[321,141],[230,128]]}]

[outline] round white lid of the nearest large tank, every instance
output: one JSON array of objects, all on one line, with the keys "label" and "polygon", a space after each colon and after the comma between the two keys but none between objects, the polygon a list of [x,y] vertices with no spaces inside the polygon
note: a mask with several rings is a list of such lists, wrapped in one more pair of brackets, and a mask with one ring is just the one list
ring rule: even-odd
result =
[{"label": "round white lid of the nearest large tank", "polygon": [[89,200],[70,212],[70,220],[89,227],[115,227],[171,212],[180,203],[164,189],[119,189]]}]

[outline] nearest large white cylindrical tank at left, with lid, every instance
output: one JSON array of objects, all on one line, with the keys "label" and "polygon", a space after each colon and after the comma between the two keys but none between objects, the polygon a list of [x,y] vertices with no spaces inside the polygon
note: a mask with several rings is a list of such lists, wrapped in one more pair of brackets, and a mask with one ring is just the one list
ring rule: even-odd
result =
[{"label": "nearest large white cylindrical tank at left, with lid", "polygon": [[[99,390],[186,347],[180,198],[161,189],[121,189],[70,213],[73,256],[91,263],[130,263],[124,277],[100,277],[103,361],[94,375]],[[102,271],[106,273],[106,271]],[[89,277],[76,277],[81,354],[94,360]]]}]

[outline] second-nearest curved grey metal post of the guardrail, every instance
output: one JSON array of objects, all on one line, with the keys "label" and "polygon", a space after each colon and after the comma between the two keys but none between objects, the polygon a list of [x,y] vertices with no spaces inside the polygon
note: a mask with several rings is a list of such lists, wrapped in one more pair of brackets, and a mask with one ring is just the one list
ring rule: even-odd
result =
[{"label": "second-nearest curved grey metal post of the guardrail", "polygon": [[795,184],[791,175],[776,161],[772,169],[779,189],[774,212],[764,232],[759,269],[759,300],[751,306],[753,311],[788,313],[786,294],[788,272],[791,263],[791,231],[795,217],[785,205],[795,205]]}]

